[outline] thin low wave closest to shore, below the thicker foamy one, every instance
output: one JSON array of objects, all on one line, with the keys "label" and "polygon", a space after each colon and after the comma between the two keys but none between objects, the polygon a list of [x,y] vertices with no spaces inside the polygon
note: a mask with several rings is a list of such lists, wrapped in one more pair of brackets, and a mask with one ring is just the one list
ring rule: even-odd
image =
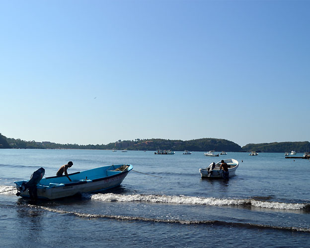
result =
[{"label": "thin low wave closest to shore, below the thicker foamy one", "polygon": [[46,211],[60,213],[60,214],[70,214],[81,218],[96,219],[115,219],[115,220],[128,220],[128,221],[145,221],[145,222],[156,222],[156,223],[175,223],[183,225],[216,225],[216,226],[230,226],[230,227],[243,227],[243,228],[256,228],[256,229],[274,229],[283,231],[293,231],[293,232],[307,232],[310,233],[309,228],[299,228],[299,227],[279,227],[263,224],[253,224],[253,223],[239,223],[239,222],[226,222],[218,220],[177,220],[177,219],[157,219],[157,218],[146,218],[139,216],[124,216],[124,215],[105,215],[105,214],[87,214],[80,212],[64,211],[61,209],[54,209],[44,206],[28,205],[30,207],[41,208]]}]

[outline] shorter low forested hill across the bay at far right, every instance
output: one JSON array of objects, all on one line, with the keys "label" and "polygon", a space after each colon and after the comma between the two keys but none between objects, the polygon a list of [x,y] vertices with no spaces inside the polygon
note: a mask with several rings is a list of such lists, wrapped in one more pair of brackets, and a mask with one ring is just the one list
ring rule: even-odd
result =
[{"label": "shorter low forested hill across the bay at far right", "polygon": [[242,147],[242,151],[250,152],[306,152],[310,151],[309,141],[301,142],[273,142],[273,143],[261,143],[261,144],[247,144]]}]

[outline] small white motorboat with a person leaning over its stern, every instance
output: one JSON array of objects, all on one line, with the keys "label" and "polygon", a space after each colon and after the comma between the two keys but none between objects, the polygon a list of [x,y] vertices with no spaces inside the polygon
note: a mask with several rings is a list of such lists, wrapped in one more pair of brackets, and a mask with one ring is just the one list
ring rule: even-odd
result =
[{"label": "small white motorboat with a person leaning over its stern", "polygon": [[[228,164],[229,176],[234,176],[239,162],[235,159],[225,159],[224,162]],[[216,164],[211,163],[208,168],[199,169],[199,172],[202,178],[223,178],[223,170],[220,170],[220,167],[221,161]]]}]

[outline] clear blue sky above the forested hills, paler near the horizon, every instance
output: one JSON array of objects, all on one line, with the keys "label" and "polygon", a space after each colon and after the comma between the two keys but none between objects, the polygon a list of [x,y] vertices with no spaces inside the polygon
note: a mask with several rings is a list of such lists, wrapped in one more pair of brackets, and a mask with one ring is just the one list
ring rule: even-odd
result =
[{"label": "clear blue sky above the forested hills, paler near the horizon", "polygon": [[0,1],[0,132],[310,140],[310,1]]}]

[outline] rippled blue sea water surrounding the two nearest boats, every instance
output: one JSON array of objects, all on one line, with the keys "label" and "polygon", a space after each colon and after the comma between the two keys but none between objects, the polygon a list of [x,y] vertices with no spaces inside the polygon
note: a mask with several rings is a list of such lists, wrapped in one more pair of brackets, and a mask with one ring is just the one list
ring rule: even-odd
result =
[{"label": "rippled blue sea water surrounding the two nearest boats", "polygon": [[[239,161],[235,177],[201,179],[199,168],[226,158]],[[70,160],[70,173],[125,163],[161,178],[130,172],[114,190],[52,201],[0,193],[1,247],[310,247],[309,160],[0,149],[0,191],[40,167],[55,176]]]}]

